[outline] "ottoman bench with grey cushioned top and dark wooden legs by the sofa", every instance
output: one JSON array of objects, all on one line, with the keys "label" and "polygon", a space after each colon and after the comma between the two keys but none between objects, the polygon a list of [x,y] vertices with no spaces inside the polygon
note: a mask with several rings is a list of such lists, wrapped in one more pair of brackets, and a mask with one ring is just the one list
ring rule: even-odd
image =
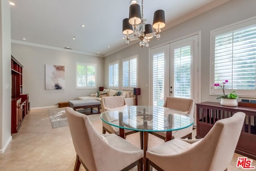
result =
[{"label": "ottoman bench with grey cushioned top and dark wooden legs by the sofa", "polygon": [[98,113],[100,113],[100,101],[93,100],[93,99],[84,99],[84,100],[71,100],[68,101],[69,106],[72,107],[74,110],[76,109],[87,109],[91,108],[92,113],[92,107],[98,107]]}]

